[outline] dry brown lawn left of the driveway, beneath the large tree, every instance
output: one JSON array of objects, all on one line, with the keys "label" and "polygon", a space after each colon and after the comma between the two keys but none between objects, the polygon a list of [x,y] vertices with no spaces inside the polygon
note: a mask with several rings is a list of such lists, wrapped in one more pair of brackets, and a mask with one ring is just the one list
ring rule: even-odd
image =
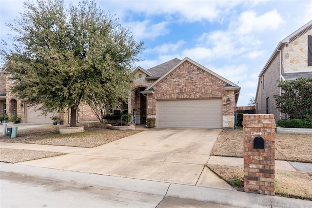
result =
[{"label": "dry brown lawn left of the driveway, beneath the large tree", "polygon": [[[141,132],[138,130],[116,131],[105,128],[85,127],[85,132],[59,134],[58,130],[59,126],[52,125],[40,128],[23,129],[19,130],[16,138],[1,135],[0,142],[93,148]],[[0,162],[19,163],[62,154],[64,153],[1,148]]]}]

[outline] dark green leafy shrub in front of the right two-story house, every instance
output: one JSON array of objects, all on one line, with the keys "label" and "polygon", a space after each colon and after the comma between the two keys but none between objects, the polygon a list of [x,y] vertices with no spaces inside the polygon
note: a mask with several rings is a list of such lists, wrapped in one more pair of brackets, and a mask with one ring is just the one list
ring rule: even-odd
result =
[{"label": "dark green leafy shrub in front of the right two-story house", "polygon": [[281,95],[275,95],[276,107],[291,119],[312,118],[312,77],[279,81]]}]

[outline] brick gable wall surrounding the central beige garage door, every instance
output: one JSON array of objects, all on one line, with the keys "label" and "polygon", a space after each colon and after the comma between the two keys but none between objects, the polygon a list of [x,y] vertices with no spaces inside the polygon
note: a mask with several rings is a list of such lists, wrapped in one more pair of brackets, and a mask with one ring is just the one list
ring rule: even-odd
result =
[{"label": "brick gable wall surrounding the central beige garage door", "polygon": [[[198,66],[185,61],[157,83],[154,94],[147,95],[147,117],[156,117],[156,100],[222,98],[223,127],[234,128],[234,90],[225,90],[226,83]],[[227,98],[231,103],[227,104]]]}]

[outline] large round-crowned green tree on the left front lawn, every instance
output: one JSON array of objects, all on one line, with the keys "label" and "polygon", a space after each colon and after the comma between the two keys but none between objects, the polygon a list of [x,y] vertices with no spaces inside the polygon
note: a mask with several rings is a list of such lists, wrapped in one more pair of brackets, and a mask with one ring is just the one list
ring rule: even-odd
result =
[{"label": "large round-crowned green tree on the left front lawn", "polygon": [[12,91],[41,103],[43,113],[69,108],[73,127],[81,102],[116,100],[129,92],[143,42],[94,1],[69,8],[63,0],[26,1],[8,25],[17,35],[1,53],[16,80]]}]

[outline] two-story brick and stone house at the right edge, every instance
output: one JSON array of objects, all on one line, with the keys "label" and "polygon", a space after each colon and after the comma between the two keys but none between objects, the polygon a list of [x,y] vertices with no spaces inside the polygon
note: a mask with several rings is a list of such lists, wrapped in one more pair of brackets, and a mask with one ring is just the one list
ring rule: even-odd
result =
[{"label": "two-story brick and stone house at the right edge", "polygon": [[274,95],[281,95],[277,80],[312,77],[312,20],[281,40],[259,74],[255,97],[256,113],[285,118],[276,109]]}]

